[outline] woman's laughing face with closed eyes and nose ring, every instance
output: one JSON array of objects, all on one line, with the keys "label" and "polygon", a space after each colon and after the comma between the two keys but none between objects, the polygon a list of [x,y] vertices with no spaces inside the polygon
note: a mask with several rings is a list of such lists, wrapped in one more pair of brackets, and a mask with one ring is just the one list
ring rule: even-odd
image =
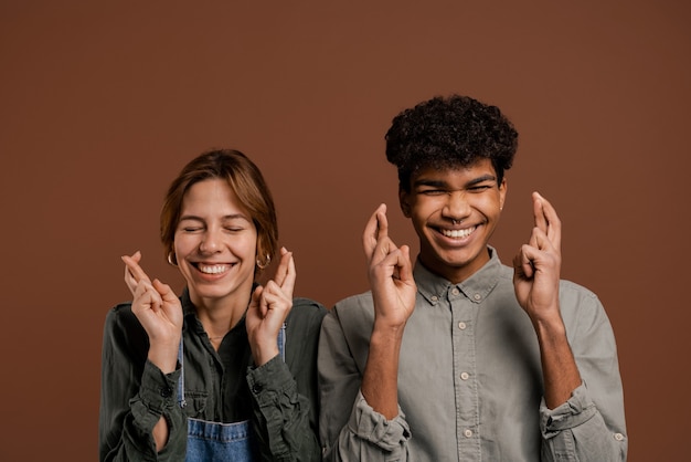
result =
[{"label": "woman's laughing face with closed eyes and nose ring", "polygon": [[195,306],[249,300],[257,249],[252,217],[227,182],[194,183],[184,195],[173,249]]}]

